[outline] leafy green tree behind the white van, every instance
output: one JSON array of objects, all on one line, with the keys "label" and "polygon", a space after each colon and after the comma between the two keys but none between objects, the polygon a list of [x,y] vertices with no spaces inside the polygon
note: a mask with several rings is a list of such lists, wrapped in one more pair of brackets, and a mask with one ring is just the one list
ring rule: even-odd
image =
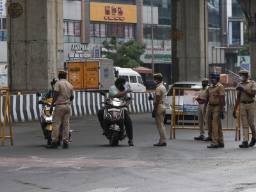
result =
[{"label": "leafy green tree behind the white van", "polygon": [[106,58],[114,61],[116,67],[136,68],[140,67],[140,56],[145,52],[146,45],[138,44],[134,40],[129,40],[124,44],[117,44],[116,36],[113,35],[109,42],[103,42],[106,51],[102,51]]}]

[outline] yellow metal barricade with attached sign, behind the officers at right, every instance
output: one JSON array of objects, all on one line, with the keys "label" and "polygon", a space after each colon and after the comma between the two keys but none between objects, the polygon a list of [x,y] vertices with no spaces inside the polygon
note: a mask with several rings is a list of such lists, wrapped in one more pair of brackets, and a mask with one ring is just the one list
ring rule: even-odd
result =
[{"label": "yellow metal barricade with attached sign, behind the officers at right", "polygon": [[[175,95],[176,90],[178,90],[178,95]],[[198,120],[197,120],[197,111],[192,113],[184,112],[184,90],[193,90],[198,92],[200,88],[173,88],[173,97],[172,97],[172,123],[170,129],[170,139],[175,139],[176,129],[195,129],[199,130]],[[232,115],[234,104],[236,102],[236,88],[225,88],[225,118],[221,120],[222,129],[225,131],[236,131],[235,140],[241,140],[241,121],[240,121],[240,110],[239,106],[237,108],[237,118],[235,119]],[[181,93],[181,94],[180,94]],[[188,96],[187,96],[188,97]],[[190,95],[189,97],[194,97]],[[198,96],[195,94],[193,99],[196,99]],[[198,103],[195,102],[198,105]],[[184,122],[189,119],[189,126],[186,126],[188,123]],[[231,120],[231,121],[230,121]]]}]

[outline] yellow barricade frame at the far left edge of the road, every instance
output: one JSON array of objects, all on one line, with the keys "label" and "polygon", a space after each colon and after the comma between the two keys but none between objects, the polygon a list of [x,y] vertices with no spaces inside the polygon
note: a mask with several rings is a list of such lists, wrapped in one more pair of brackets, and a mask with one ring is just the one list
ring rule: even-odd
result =
[{"label": "yellow barricade frame at the far left edge of the road", "polygon": [[[5,91],[5,104],[4,104],[4,122],[3,122],[3,132],[1,132],[1,124],[0,124],[0,138],[2,138],[2,146],[4,146],[4,139],[10,139],[11,145],[13,145],[13,139],[12,139],[12,120],[11,120],[11,112],[10,112],[10,95],[9,95],[9,89],[8,88],[0,88],[0,98],[3,96],[3,91]],[[0,109],[2,109],[2,103],[0,99]],[[6,115],[8,111],[8,122],[9,122],[9,129],[10,129],[10,136],[5,135],[5,125],[6,125]],[[2,122],[1,116],[0,116],[0,123]]]}]

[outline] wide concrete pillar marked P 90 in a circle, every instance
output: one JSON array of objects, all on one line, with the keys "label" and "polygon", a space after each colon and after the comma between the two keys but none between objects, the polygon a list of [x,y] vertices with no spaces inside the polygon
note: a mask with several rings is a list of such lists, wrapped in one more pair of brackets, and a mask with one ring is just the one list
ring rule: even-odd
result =
[{"label": "wide concrete pillar marked P 90 in a circle", "polygon": [[63,0],[7,0],[8,87],[47,90],[63,69]]}]

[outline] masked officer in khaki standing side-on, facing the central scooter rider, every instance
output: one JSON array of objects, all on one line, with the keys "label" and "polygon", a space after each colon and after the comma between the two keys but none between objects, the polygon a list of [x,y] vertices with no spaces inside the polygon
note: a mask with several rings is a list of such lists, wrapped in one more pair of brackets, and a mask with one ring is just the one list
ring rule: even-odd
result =
[{"label": "masked officer in khaki standing side-on, facing the central scooter rider", "polygon": [[154,74],[153,77],[154,83],[157,84],[156,93],[154,98],[148,97],[148,100],[153,100],[154,102],[152,117],[156,118],[156,127],[160,135],[159,143],[154,144],[154,146],[166,146],[166,132],[164,128],[164,115],[166,113],[164,98],[166,96],[166,88],[162,82],[162,74]]}]

